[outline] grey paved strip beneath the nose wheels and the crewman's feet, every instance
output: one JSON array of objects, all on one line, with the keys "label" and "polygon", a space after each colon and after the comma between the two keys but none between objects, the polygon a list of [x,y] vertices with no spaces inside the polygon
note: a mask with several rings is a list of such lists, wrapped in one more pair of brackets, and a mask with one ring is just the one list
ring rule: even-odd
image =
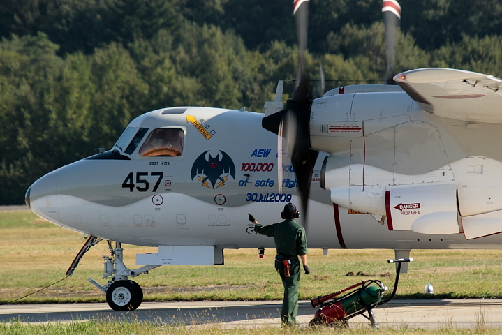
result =
[{"label": "grey paved strip beneath the nose wheels and the crewman's feet", "polygon": [[[115,312],[108,304],[39,304],[0,306],[0,322],[77,322],[129,320],[162,325],[206,327],[279,327],[281,301],[202,301],[143,303],[136,311]],[[300,301],[297,321],[307,327],[315,308]],[[374,309],[378,327],[408,329],[502,328],[502,299],[393,300]],[[369,325],[361,315],[350,327]]]}]

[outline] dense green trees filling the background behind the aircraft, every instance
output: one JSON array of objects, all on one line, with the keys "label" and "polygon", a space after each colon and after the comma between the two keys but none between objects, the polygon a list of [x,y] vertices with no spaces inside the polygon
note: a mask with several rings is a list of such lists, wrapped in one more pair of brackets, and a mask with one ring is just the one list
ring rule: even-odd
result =
[{"label": "dense green trees filling the background behind the aircraft", "polygon": [[[22,203],[38,177],[109,149],[149,110],[262,112],[277,80],[295,77],[290,2],[3,0],[0,204]],[[400,3],[397,72],[441,66],[501,77],[502,3]],[[311,0],[311,78],[322,64],[327,86],[381,81],[380,8],[380,0]]]}]

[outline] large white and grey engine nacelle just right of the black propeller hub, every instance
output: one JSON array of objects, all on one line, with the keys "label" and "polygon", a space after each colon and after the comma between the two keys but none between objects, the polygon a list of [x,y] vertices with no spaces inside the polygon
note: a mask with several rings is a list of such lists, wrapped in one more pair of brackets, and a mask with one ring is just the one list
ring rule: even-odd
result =
[{"label": "large white and grey engine nacelle just right of the black propeller hub", "polygon": [[466,239],[502,232],[500,159],[458,156],[452,127],[407,94],[337,93],[313,101],[309,124],[311,147],[330,153],[320,186],[332,202],[390,230]]}]

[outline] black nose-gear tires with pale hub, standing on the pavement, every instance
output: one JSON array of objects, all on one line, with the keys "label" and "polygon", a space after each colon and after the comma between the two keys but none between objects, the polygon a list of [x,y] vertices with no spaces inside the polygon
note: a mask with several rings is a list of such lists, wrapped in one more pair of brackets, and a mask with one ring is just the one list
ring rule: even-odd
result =
[{"label": "black nose-gear tires with pale hub, standing on the pavement", "polygon": [[143,300],[143,292],[134,281],[115,281],[106,290],[106,302],[114,311],[134,311]]}]

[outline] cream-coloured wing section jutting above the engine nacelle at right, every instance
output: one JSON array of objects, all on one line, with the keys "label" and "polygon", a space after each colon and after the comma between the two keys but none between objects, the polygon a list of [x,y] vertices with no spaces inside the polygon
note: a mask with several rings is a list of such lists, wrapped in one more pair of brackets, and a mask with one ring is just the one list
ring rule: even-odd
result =
[{"label": "cream-coloured wing section jutting above the engine nacelle at right", "polygon": [[421,68],[400,73],[394,80],[431,114],[462,121],[502,122],[500,78],[451,68]]}]

